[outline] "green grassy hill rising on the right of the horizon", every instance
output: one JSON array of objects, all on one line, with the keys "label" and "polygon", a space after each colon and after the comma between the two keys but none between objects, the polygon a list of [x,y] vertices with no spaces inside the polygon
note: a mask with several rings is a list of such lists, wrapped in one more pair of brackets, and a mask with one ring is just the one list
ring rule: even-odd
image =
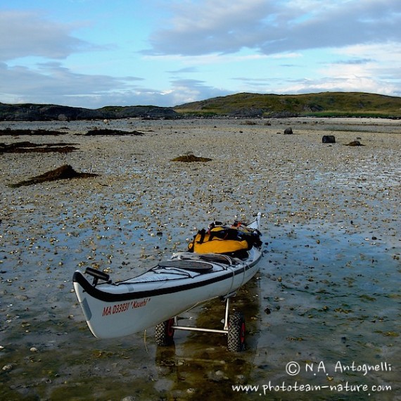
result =
[{"label": "green grassy hill rising on the right of the horizon", "polygon": [[234,94],[174,107],[181,115],[401,117],[401,98],[362,92]]}]

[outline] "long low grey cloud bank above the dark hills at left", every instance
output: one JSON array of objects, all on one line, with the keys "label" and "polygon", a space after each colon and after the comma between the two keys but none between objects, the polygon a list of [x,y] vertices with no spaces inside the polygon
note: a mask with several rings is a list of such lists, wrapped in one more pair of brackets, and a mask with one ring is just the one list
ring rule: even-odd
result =
[{"label": "long low grey cloud bank above the dark hills at left", "polygon": [[0,98],[4,103],[56,103],[86,108],[177,106],[231,93],[197,79],[174,79],[169,89],[146,88],[139,85],[143,81],[137,77],[78,74],[58,62],[42,63],[37,69],[0,63],[0,82]]}]

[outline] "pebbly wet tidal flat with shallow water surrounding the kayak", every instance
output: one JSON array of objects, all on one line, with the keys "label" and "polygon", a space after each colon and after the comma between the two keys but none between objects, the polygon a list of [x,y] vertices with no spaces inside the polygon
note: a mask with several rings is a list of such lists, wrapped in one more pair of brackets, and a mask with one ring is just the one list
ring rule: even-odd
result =
[{"label": "pebbly wet tidal flat with shallow water surrounding the kayak", "polygon": [[[103,122],[0,123],[8,127],[60,130],[57,142],[78,150],[0,155],[1,399],[401,400],[400,121],[107,126],[141,136],[84,136]],[[355,140],[364,146],[345,146]],[[171,161],[186,154],[212,160]],[[9,186],[66,164],[98,176]],[[258,210],[265,255],[232,302],[246,315],[245,352],[227,352],[224,336],[210,333],[179,331],[172,348],[158,348],[153,329],[91,336],[75,269],[126,279],[184,250],[211,220]],[[215,300],[183,317],[219,328],[223,311]],[[368,366],[378,368],[364,374]],[[241,384],[259,388],[232,387]]]}]

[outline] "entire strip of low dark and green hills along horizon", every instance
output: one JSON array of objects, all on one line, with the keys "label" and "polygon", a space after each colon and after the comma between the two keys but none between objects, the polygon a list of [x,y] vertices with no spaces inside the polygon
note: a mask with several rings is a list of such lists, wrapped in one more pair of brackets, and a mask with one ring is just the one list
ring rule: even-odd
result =
[{"label": "entire strip of low dark and green hills along horizon", "polygon": [[377,117],[401,118],[401,98],[363,92],[317,94],[233,94],[174,107],[106,106],[98,109],[52,104],[0,103],[0,121],[115,120],[141,117],[174,120],[193,117]]}]

